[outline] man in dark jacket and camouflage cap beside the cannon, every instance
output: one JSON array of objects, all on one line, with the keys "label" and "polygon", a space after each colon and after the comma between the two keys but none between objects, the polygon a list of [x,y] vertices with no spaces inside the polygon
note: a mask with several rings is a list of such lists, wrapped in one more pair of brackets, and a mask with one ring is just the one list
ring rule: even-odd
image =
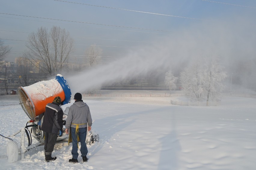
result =
[{"label": "man in dark jacket and camouflage cap beside the cannon", "polygon": [[54,98],[52,103],[48,103],[45,107],[44,118],[41,130],[44,131],[44,154],[45,161],[50,162],[56,160],[52,157],[52,151],[57,140],[59,130],[62,131],[63,111],[59,106],[61,98]]}]

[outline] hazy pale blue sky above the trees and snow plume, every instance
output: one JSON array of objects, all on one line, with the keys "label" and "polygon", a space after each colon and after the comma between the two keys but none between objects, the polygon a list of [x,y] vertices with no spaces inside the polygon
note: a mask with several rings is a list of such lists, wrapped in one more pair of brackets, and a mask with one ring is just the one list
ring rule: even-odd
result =
[{"label": "hazy pale blue sky above the trees and snow plume", "polygon": [[209,25],[220,29],[220,23],[226,24],[227,30],[235,25],[246,32],[252,27],[241,21],[253,23],[255,16],[255,0],[1,0],[0,38],[12,47],[5,60],[14,61],[26,49],[29,33],[56,25],[75,40],[72,59],[82,60],[89,45],[96,43],[107,61],[174,36],[180,44],[186,43],[185,34],[206,37]]}]

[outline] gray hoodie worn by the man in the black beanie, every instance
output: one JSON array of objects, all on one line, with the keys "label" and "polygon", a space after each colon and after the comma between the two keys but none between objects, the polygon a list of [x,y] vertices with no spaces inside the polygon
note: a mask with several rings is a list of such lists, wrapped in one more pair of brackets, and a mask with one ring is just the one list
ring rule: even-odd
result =
[{"label": "gray hoodie worn by the man in the black beanie", "polygon": [[83,101],[77,101],[69,107],[69,114],[66,119],[65,127],[67,129],[69,127],[76,128],[76,125],[73,125],[72,123],[73,124],[85,123],[84,125],[79,125],[79,128],[86,128],[87,124],[88,126],[92,126],[92,117],[91,117],[90,109],[88,105]]}]

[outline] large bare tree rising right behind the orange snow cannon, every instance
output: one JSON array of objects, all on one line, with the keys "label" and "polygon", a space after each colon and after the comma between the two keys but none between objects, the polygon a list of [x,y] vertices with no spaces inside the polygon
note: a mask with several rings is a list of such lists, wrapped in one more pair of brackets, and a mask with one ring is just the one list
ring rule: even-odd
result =
[{"label": "large bare tree rising right behind the orange snow cannon", "polygon": [[[36,33],[28,36],[26,43],[28,51],[24,53],[30,62],[41,71],[53,75],[61,71],[63,63],[73,50],[73,39],[69,32],[60,27],[53,26],[48,32],[47,28],[38,28]],[[38,60],[42,61],[39,64]]]}]

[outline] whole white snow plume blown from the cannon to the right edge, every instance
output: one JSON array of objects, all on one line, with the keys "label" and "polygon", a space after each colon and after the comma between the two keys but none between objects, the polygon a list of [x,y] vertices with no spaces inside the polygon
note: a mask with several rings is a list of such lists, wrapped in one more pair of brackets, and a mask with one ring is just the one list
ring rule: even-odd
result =
[{"label": "whole white snow plume blown from the cannon to the right edge", "polygon": [[233,59],[245,59],[243,54],[255,57],[252,46],[255,36],[249,36],[253,29],[254,23],[243,20],[232,23],[207,21],[158,37],[152,45],[138,47],[108,65],[75,73],[66,77],[66,80],[72,90],[84,92],[105,82],[133,77],[158,68],[180,72],[190,61],[202,56],[219,56],[224,67],[230,68]]}]

